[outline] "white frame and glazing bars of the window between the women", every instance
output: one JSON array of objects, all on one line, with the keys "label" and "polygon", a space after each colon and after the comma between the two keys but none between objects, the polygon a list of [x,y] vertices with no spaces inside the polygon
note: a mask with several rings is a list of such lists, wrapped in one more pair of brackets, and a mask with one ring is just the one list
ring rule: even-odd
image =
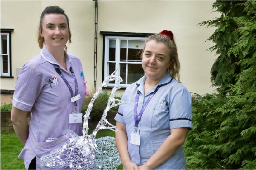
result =
[{"label": "white frame and glazing bars of the window between the women", "polygon": [[[109,39],[115,39],[115,61],[109,61]],[[108,76],[109,72],[109,63],[116,63],[115,69],[120,67],[120,64],[141,64],[142,62],[128,62],[128,61],[120,61],[120,45],[121,40],[146,40],[144,37],[130,37],[130,36],[105,36],[105,53],[104,53],[104,78]],[[128,50],[127,50],[128,53]],[[121,87],[127,87],[130,84],[127,84],[128,77],[128,64],[126,65],[126,84],[120,84]],[[140,65],[141,66],[141,65]],[[118,69],[117,75],[120,76],[120,69]],[[123,80],[124,82],[124,80]],[[107,87],[114,87],[115,84],[108,83]]]}]

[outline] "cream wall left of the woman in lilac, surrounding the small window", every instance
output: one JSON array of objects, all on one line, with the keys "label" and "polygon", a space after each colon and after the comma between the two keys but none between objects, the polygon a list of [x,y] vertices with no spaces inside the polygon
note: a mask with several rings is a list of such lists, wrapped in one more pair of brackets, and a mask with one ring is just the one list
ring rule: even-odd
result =
[{"label": "cream wall left of the woman in lilac, surrounding the small window", "polygon": [[13,28],[12,32],[12,76],[1,78],[1,89],[13,90],[16,85],[16,67],[40,52],[36,42],[38,18],[40,18],[40,1],[2,1],[1,28]]}]

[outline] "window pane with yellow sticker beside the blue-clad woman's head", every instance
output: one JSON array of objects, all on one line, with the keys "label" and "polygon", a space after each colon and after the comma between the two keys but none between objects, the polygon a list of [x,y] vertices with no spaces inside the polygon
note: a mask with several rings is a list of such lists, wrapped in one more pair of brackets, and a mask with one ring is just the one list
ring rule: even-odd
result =
[{"label": "window pane with yellow sticker beside the blue-clad woman's head", "polygon": [[141,61],[140,52],[143,46],[142,40],[128,40],[128,61]]}]

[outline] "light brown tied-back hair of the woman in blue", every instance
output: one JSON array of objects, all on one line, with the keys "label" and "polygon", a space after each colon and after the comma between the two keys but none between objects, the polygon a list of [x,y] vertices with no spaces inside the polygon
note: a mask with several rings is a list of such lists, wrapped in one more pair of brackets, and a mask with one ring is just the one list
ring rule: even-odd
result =
[{"label": "light brown tied-back hair of the woman in blue", "polygon": [[170,67],[168,68],[168,72],[173,78],[175,78],[176,80],[179,81],[179,79],[180,79],[179,70],[180,70],[181,66],[180,66],[180,62],[178,60],[178,52],[177,52],[177,47],[174,42],[174,39],[170,36],[163,35],[163,34],[154,34],[154,35],[147,37],[147,40],[145,42],[144,48],[141,53],[141,58],[144,53],[145,46],[146,46],[147,42],[149,42],[150,40],[155,40],[157,42],[161,42],[168,47],[168,49],[170,50],[170,61],[171,61]]}]

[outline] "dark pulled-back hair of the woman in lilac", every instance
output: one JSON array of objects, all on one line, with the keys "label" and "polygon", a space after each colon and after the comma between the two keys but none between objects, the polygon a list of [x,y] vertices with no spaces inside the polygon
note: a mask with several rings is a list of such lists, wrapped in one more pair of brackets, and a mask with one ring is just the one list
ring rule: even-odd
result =
[{"label": "dark pulled-back hair of the woman in lilac", "polygon": [[[43,43],[44,43],[44,38],[41,37],[40,35],[40,29],[43,30],[43,27],[42,27],[42,21],[43,21],[43,17],[46,15],[46,14],[62,14],[66,17],[66,20],[68,22],[68,28],[69,28],[69,17],[65,14],[65,11],[60,8],[59,6],[48,6],[46,7],[42,14],[41,14],[41,17],[40,17],[40,23],[39,23],[39,27],[38,27],[38,31],[37,31],[37,42],[39,44],[39,47],[42,49],[43,48]],[[40,29],[39,29],[40,28]],[[69,28],[69,44],[71,43],[71,31],[70,31],[70,28]],[[65,50],[67,51],[67,47],[65,45]]]}]

